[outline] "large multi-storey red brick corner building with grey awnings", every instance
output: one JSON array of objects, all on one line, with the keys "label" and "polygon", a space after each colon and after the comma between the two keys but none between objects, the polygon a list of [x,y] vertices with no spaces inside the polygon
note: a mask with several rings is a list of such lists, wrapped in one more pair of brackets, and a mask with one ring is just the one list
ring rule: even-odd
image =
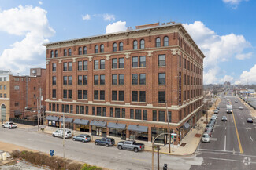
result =
[{"label": "large multi-storey red brick corner building with grey awnings", "polygon": [[45,46],[49,126],[61,127],[65,114],[65,127],[76,131],[151,141],[167,132],[169,119],[181,140],[202,115],[205,56],[182,24]]}]

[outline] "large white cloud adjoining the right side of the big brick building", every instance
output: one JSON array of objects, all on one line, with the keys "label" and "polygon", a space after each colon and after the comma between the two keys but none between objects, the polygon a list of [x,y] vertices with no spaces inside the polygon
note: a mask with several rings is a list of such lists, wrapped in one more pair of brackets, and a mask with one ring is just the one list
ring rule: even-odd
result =
[{"label": "large white cloud adjoining the right side of the big brick building", "polygon": [[217,73],[222,71],[217,66],[220,62],[232,60],[235,56],[241,59],[242,56],[248,57],[249,55],[243,54],[244,49],[251,47],[250,42],[247,42],[243,35],[218,35],[201,21],[195,21],[194,24],[184,24],[184,27],[206,56],[204,59],[205,84],[219,83]]}]

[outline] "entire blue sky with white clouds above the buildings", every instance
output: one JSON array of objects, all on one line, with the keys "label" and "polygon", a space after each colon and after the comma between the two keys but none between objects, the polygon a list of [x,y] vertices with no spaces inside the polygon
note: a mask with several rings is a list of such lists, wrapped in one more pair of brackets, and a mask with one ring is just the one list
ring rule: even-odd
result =
[{"label": "entire blue sky with white clouds above the buildings", "polygon": [[206,56],[204,84],[256,84],[255,0],[0,0],[0,70],[46,67],[43,43],[181,23]]}]

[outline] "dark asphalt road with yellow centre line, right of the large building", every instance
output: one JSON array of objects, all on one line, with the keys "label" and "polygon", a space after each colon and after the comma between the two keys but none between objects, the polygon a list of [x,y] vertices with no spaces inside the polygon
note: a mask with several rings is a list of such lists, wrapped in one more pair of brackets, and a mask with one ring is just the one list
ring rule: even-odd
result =
[{"label": "dark asphalt road with yellow centre line, right of the large building", "polygon": [[[232,103],[233,114],[226,113],[227,100]],[[237,101],[237,103],[235,102]],[[242,106],[243,110],[239,110]],[[200,143],[197,157],[203,158],[200,166],[192,165],[194,169],[256,169],[256,125],[247,123],[250,110],[235,96],[221,98],[220,113],[213,128],[210,143]],[[227,122],[221,121],[225,115]]]}]

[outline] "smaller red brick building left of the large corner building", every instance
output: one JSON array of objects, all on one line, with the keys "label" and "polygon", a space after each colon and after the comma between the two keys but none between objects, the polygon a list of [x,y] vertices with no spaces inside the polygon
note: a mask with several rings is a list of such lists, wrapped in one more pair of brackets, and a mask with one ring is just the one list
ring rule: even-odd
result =
[{"label": "smaller red brick building left of the large corner building", "polygon": [[10,75],[9,89],[9,118],[37,118],[36,108],[37,104],[39,106],[40,103],[40,91],[42,111],[46,107],[46,69],[32,68],[30,69],[30,76]]}]

